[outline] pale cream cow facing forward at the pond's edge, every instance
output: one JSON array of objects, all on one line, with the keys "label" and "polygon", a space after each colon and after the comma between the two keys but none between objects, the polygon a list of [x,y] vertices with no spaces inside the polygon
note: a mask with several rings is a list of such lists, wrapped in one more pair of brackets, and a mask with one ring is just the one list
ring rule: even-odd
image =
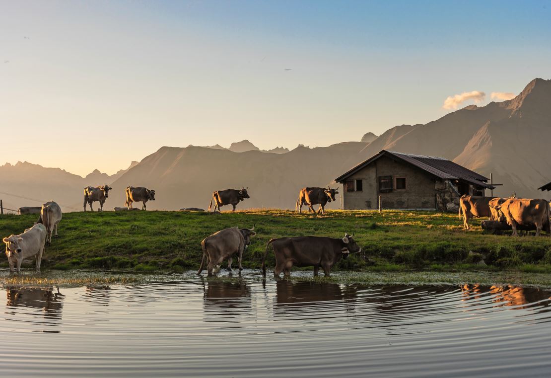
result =
[{"label": "pale cream cow facing forward at the pond's edge", "polygon": [[35,256],[36,271],[40,272],[40,262],[44,255],[44,245],[47,237],[47,230],[43,224],[35,224],[26,229],[23,234],[4,237],[6,243],[6,256],[8,256],[9,271],[13,273],[14,264],[17,266],[17,273],[21,271],[21,262],[25,258]]}]

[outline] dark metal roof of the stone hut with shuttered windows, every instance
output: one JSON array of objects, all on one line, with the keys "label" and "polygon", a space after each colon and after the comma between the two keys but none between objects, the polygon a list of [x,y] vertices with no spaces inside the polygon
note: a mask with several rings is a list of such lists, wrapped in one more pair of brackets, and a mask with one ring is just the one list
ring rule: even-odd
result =
[{"label": "dark metal roof of the stone hut with shuttered windows", "polygon": [[353,175],[360,169],[363,169],[365,166],[371,164],[373,161],[379,159],[383,155],[392,156],[394,158],[406,161],[407,163],[417,166],[417,168],[420,168],[436,177],[439,177],[440,179],[463,180],[472,183],[473,185],[482,186],[489,189],[493,188],[491,185],[486,183],[488,181],[487,177],[479,175],[477,172],[473,172],[470,169],[453,163],[453,161],[450,161],[448,159],[439,158],[437,156],[403,154],[401,152],[393,152],[387,150],[382,150],[380,153],[371,156],[371,158],[369,158],[368,160],[365,160],[363,163],[356,165],[345,174],[337,177],[335,181],[342,182],[347,177]]}]

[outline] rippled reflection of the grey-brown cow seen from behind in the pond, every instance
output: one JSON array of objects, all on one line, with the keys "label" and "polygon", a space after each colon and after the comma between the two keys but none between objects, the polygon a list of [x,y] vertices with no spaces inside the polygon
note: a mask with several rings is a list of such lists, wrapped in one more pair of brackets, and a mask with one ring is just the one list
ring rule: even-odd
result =
[{"label": "rippled reflection of the grey-brown cow seen from behind in the pond", "polygon": [[206,321],[239,321],[252,311],[251,291],[244,281],[203,280]]}]

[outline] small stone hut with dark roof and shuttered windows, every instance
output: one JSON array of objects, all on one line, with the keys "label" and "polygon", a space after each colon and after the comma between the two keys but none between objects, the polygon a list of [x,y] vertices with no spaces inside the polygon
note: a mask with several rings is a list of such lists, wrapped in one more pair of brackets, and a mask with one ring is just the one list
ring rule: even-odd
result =
[{"label": "small stone hut with dark roof and shuttered windows", "polygon": [[[488,178],[435,156],[382,150],[335,179],[343,209],[457,211],[462,195],[484,196]],[[380,202],[380,203],[379,203]]]}]

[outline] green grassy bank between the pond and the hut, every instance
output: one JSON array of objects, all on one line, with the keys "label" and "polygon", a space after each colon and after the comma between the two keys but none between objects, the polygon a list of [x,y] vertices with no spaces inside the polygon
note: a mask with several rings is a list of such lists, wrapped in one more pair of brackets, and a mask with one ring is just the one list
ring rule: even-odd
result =
[{"label": "green grassy bank between the pond and the hut", "polygon": [[[35,220],[36,215],[2,215],[0,236],[19,234]],[[551,237],[486,233],[479,220],[465,231],[457,214],[333,210],[318,216],[264,209],[223,214],[67,213],[60,223],[60,236],[46,247],[42,267],[182,272],[199,266],[204,237],[235,225],[256,226],[257,235],[244,257],[246,268],[260,267],[272,237],[342,237],[348,232],[355,233],[363,252],[342,261],[336,270],[551,272]],[[469,251],[476,255],[469,256]],[[268,267],[273,267],[273,252],[268,256]],[[480,257],[486,265],[479,263]],[[7,259],[0,258],[0,264],[6,267]]]}]

